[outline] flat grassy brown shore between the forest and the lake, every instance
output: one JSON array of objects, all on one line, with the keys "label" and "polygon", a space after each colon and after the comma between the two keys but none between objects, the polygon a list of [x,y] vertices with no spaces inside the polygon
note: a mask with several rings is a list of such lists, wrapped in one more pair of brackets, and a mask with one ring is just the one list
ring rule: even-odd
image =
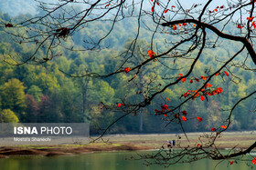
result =
[{"label": "flat grassy brown shore between the forest and the lake", "polygon": [[[106,135],[102,141],[88,145],[21,145],[21,146],[0,146],[0,158],[16,155],[79,155],[93,152],[112,152],[112,151],[141,151],[157,150],[162,146],[166,147],[166,140],[176,140],[182,147],[197,147],[200,144],[198,136],[206,133],[187,133],[190,143],[184,134],[152,134],[152,135]],[[92,138],[93,139],[93,138]],[[201,141],[203,140],[200,138]],[[205,141],[207,142],[207,141]],[[229,150],[246,149],[255,142],[254,132],[227,132],[216,140],[218,149]],[[174,148],[178,148],[175,146]]]}]

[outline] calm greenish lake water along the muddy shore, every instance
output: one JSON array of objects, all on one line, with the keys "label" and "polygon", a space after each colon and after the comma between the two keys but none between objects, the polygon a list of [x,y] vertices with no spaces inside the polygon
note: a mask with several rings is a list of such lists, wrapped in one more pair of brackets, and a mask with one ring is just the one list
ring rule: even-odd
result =
[{"label": "calm greenish lake water along the muddy shore", "polygon": [[[159,165],[145,166],[143,161],[125,160],[135,152],[93,153],[74,156],[16,156],[0,159],[0,170],[213,170],[218,161],[201,160],[192,164],[172,165],[164,168]],[[252,165],[252,164],[251,164]],[[220,163],[216,170],[247,170],[245,163],[229,165]],[[256,165],[253,169],[256,169]]]}]

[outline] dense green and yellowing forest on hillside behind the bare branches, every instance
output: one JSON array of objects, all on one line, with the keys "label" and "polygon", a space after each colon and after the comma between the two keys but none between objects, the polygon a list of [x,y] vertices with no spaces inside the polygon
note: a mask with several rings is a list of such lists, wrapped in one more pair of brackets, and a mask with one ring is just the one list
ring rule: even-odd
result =
[{"label": "dense green and yellowing forest on hillside behind the bare branches", "polygon": [[[2,12],[0,13],[0,24],[17,23],[29,17],[31,16],[10,16]],[[89,25],[86,31],[82,30],[73,35],[72,41],[67,39],[66,43],[68,46],[83,46],[86,37],[99,39],[104,36],[108,26],[111,26],[111,23],[102,26],[100,21],[97,24]],[[166,72],[165,68],[158,69],[159,63],[157,62],[155,65],[147,65],[144,69],[144,76],[139,77],[133,84],[128,84],[128,80],[131,79],[129,74],[119,74],[108,78],[69,76],[85,75],[87,71],[107,75],[120,67],[122,61],[115,56],[122,54],[124,49],[127,49],[127,45],[131,41],[130,38],[134,36],[132,30],[136,29],[136,25],[133,25],[131,20],[123,20],[118,22],[116,27],[110,37],[102,43],[101,51],[69,51],[62,48],[59,49],[60,56],[41,65],[7,64],[11,62],[9,56],[29,55],[33,53],[35,46],[22,42],[16,43],[15,38],[10,38],[5,33],[5,28],[0,28],[0,122],[89,122],[91,123],[91,133],[98,133],[99,127],[105,127],[123,115],[120,111],[102,110],[101,102],[106,105],[117,105],[122,102],[124,97],[130,98],[130,100],[140,100],[137,95],[133,94],[143,91],[143,87],[140,86],[141,82],[150,82],[151,79],[155,79],[158,85],[165,85],[165,78],[156,75],[178,76],[181,67]],[[232,31],[231,27],[229,29]],[[11,31],[16,30],[12,29]],[[139,37],[139,43],[136,46],[137,54],[134,54],[138,60],[143,58],[142,54],[146,54],[149,49],[149,31],[145,28]],[[157,36],[157,45],[161,50],[161,46],[165,42],[165,35]],[[233,46],[236,44],[234,43]],[[40,51],[39,54],[43,58],[45,53]],[[228,53],[232,54],[233,52],[228,52],[224,47],[208,49],[208,55],[205,55],[196,65],[194,76],[207,75],[210,69],[218,67],[214,58],[216,60],[218,60],[218,56],[225,58]],[[165,63],[165,61],[162,62]],[[186,62],[176,60],[174,63],[186,67],[189,60]],[[165,63],[165,65],[170,66],[174,63]],[[229,75],[229,77],[221,75],[212,80],[213,86],[223,88],[222,94],[208,97],[204,101],[196,99],[187,103],[186,107],[190,116],[198,115],[204,120],[204,123],[199,123],[194,118],[189,120],[193,123],[185,125],[187,131],[210,131],[211,127],[220,125],[227,119],[230,106],[234,105],[240,97],[247,95],[251,88],[255,88],[255,74],[237,68],[231,69],[236,75]],[[232,77],[232,81],[230,77]],[[189,89],[197,89],[199,86],[197,83],[189,84],[189,89],[187,89],[188,84],[189,81],[176,86],[175,89],[170,88],[163,96],[167,97],[170,102],[177,103],[181,100],[180,94],[186,93]],[[165,127],[164,115],[159,115],[162,116],[162,119],[155,119],[155,109],[159,109],[157,107],[163,102],[163,96],[155,98],[154,104],[144,108],[143,116],[141,114],[128,116],[119,121],[112,127],[111,133],[180,132],[179,126],[174,123]],[[256,115],[255,112],[253,113],[255,106],[251,100],[241,103],[232,115],[232,126],[229,129],[255,129]]]}]

